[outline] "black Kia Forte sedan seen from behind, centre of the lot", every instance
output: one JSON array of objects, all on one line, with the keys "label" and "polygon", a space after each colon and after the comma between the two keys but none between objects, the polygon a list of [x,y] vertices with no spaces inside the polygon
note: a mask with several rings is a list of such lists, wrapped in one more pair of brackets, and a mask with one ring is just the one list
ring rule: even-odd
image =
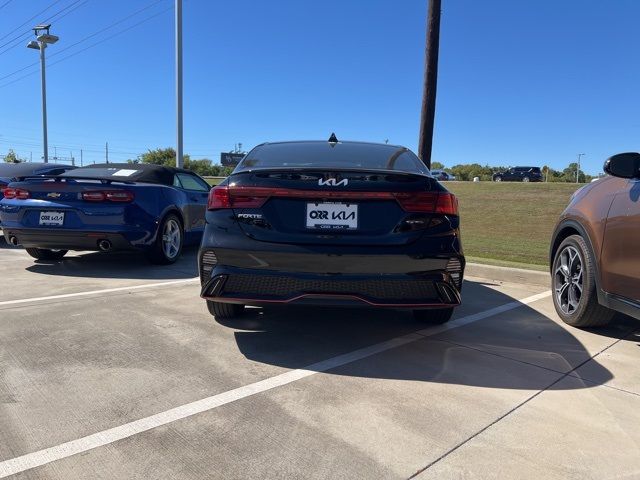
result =
[{"label": "black Kia Forte sedan seen from behind, centre of the lot", "polygon": [[206,221],[201,296],[219,319],[296,304],[444,323],[460,304],[457,199],[401,146],[264,143],[211,190]]}]

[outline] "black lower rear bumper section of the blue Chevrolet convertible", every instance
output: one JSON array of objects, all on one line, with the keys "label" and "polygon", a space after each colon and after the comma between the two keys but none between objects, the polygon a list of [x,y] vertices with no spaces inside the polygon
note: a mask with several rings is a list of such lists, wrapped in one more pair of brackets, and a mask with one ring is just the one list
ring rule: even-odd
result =
[{"label": "black lower rear bumper section of the blue Chevrolet convertible", "polygon": [[3,229],[7,243],[15,237],[19,245],[25,248],[48,248],[62,250],[100,250],[98,242],[108,240],[111,242],[111,250],[131,250],[134,249],[124,235],[112,232],[93,232],[79,230],[51,229]]}]

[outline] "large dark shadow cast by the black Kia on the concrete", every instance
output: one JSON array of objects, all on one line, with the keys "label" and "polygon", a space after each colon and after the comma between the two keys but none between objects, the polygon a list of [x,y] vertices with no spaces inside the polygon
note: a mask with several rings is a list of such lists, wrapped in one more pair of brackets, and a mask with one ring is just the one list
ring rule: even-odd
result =
[{"label": "large dark shadow cast by the black Kia on the concrete", "polygon": [[[465,293],[467,301],[482,299],[478,311],[514,301],[475,282],[465,282]],[[247,359],[287,369],[314,369],[316,362],[402,335],[425,335],[334,368],[331,375],[535,390],[547,388],[550,377],[559,378],[591,357],[571,327],[526,305],[434,335],[410,312],[379,309],[249,308],[240,319],[218,323],[237,330],[235,340]],[[637,328],[637,323],[617,325],[598,333],[623,338]],[[585,381],[580,387],[563,382],[554,388],[589,388],[613,378],[596,360],[591,363],[596,382]]]}]

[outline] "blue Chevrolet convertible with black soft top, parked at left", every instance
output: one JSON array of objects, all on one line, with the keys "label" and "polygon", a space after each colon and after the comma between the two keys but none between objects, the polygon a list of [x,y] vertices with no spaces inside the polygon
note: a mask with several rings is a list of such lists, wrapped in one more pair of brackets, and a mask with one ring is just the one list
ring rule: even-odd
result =
[{"label": "blue Chevrolet convertible with black soft top, parked at left", "polygon": [[37,259],[68,250],[140,250],[176,261],[204,231],[209,184],[193,172],[148,164],[99,164],[4,189],[4,236]]}]

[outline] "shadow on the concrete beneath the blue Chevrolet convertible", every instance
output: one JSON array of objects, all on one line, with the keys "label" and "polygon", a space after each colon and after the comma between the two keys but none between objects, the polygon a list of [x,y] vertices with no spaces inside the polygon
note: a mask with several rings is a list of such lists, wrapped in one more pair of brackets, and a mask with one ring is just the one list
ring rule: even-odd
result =
[{"label": "shadow on the concrete beneath the blue Chevrolet convertible", "polygon": [[91,252],[62,260],[34,260],[27,271],[42,275],[80,278],[173,280],[198,276],[197,247],[185,247],[172,265],[153,265],[140,252]]}]

